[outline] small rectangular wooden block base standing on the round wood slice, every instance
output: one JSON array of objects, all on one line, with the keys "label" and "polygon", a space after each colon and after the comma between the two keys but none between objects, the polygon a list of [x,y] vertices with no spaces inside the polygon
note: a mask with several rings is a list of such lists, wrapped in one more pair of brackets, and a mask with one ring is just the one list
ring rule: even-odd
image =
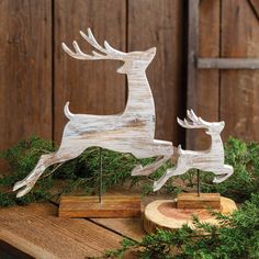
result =
[{"label": "small rectangular wooden block base standing on the round wood slice", "polygon": [[215,209],[221,210],[219,193],[179,193],[177,209]]}]

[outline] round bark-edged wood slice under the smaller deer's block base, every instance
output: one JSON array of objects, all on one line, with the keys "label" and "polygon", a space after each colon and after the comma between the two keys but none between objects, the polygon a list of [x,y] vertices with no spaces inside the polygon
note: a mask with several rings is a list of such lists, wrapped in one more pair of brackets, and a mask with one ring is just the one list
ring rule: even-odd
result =
[{"label": "round bark-edged wood slice under the smaller deer's block base", "polygon": [[[227,198],[221,198],[221,213],[230,214],[237,210],[236,203]],[[193,227],[192,215],[200,221],[217,224],[217,221],[206,209],[177,209],[177,200],[158,200],[149,203],[144,213],[144,229],[147,233],[155,233],[157,228],[177,229],[183,224]]]}]

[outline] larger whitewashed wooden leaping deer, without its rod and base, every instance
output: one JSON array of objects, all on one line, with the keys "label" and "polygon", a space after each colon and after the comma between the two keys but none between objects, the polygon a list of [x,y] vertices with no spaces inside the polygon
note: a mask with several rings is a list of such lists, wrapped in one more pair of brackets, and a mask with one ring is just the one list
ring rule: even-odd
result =
[{"label": "larger whitewashed wooden leaping deer, without its rod and base", "polygon": [[59,149],[56,153],[43,155],[33,171],[14,184],[14,191],[21,189],[16,196],[23,196],[30,192],[47,167],[74,159],[91,146],[131,153],[137,158],[160,157],[159,160],[144,168],[137,166],[132,174],[149,174],[173,154],[172,143],[154,139],[155,105],[145,70],[155,57],[156,48],[123,53],[111,47],[108,42],[104,42],[104,47],[99,45],[90,29],[88,29],[88,35],[82,32],[80,34],[98,52],[93,50],[92,55],[85,54],[77,42],[72,43],[75,52],[64,43],[63,49],[71,57],[81,60],[122,60],[124,64],[117,72],[127,76],[126,108],[122,114],[117,115],[72,114],[67,102],[64,111],[69,122],[65,126]]}]

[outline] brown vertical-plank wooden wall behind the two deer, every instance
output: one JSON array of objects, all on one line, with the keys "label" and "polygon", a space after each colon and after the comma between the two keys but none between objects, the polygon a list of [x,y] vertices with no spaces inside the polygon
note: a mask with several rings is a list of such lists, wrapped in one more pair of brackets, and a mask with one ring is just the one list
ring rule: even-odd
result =
[{"label": "brown vertical-plank wooden wall behind the two deer", "polygon": [[[91,27],[122,50],[157,46],[148,78],[157,108],[157,138],[184,144],[176,123],[187,106],[185,0],[1,0],[0,150],[32,134],[60,142],[70,101],[75,113],[111,114],[126,102],[116,61],[79,61],[60,47]],[[255,10],[254,10],[255,11]],[[200,3],[200,56],[259,57],[258,16],[247,0]],[[228,135],[259,140],[259,71],[199,71],[196,111],[225,120]],[[198,138],[196,136],[200,136]],[[207,145],[204,133],[194,145]]]}]

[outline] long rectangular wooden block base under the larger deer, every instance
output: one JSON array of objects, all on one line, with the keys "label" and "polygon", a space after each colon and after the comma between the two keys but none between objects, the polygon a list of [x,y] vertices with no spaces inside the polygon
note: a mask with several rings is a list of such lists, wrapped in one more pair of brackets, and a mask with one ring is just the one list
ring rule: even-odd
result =
[{"label": "long rectangular wooden block base under the larger deer", "polygon": [[63,196],[59,217],[140,217],[140,196]]}]

